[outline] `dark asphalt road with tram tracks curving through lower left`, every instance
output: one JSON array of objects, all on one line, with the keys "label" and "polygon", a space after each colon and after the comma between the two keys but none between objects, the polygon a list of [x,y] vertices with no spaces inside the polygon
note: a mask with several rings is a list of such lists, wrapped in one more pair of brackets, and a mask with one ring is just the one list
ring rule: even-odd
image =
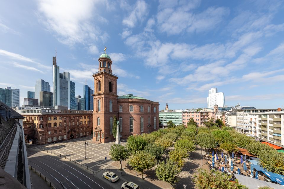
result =
[{"label": "dark asphalt road with tram tracks curving through lower left", "polygon": [[115,184],[106,184],[74,163],[41,151],[28,148],[28,159],[30,166],[41,172],[57,189],[113,189],[111,185]]}]

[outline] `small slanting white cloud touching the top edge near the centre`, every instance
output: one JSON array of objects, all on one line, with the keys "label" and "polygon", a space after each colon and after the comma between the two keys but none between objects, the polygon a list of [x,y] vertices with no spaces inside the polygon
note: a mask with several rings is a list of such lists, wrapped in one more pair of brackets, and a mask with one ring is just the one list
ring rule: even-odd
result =
[{"label": "small slanting white cloud touching the top edge near the centre", "polygon": [[138,21],[143,21],[148,15],[148,5],[145,1],[137,1],[135,7],[127,18],[122,20],[122,24],[127,27],[135,27]]}]

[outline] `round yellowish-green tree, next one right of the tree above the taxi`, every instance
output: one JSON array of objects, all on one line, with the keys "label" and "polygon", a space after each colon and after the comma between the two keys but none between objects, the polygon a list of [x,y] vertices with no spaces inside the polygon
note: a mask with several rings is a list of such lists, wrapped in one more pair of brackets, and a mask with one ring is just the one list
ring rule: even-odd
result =
[{"label": "round yellowish-green tree, next one right of the tree above the taxi", "polygon": [[155,157],[148,152],[138,151],[129,159],[128,164],[135,171],[141,172],[143,179],[143,171],[154,167]]}]

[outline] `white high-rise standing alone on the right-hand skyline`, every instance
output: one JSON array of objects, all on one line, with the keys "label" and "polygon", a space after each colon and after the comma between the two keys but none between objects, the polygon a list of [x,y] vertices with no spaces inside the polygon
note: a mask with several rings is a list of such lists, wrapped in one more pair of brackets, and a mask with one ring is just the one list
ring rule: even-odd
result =
[{"label": "white high-rise standing alone on the right-hand skyline", "polygon": [[215,104],[217,104],[218,107],[224,107],[225,95],[223,92],[218,92],[217,88],[212,88],[208,93],[207,107],[213,108]]}]

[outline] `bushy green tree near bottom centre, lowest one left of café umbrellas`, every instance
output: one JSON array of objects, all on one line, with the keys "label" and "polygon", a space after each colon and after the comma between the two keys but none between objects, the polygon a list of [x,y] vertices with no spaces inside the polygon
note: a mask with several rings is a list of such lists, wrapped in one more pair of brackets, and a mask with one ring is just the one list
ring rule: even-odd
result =
[{"label": "bushy green tree near bottom centre, lowest one left of caf\u00e9 umbrellas", "polygon": [[181,171],[181,169],[175,164],[171,159],[167,159],[166,163],[164,161],[159,162],[156,167],[156,176],[159,180],[167,182],[171,185],[174,185],[178,182],[177,174]]}]

